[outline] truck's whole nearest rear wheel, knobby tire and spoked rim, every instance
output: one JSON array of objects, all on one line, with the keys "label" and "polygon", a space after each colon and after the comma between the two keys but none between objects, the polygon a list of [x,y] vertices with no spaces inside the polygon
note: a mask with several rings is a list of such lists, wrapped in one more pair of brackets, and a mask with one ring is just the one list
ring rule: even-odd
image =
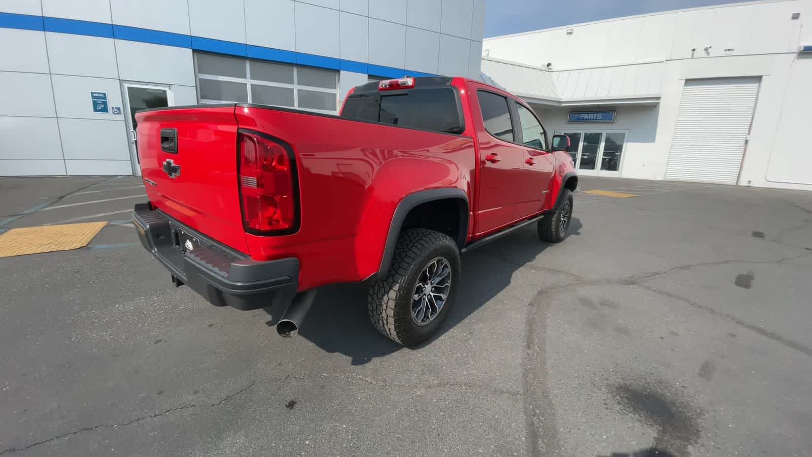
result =
[{"label": "truck's whole nearest rear wheel, knobby tire and spoked rim", "polygon": [[389,275],[369,287],[369,319],[393,341],[415,346],[443,324],[459,281],[460,251],[451,237],[425,228],[404,230]]}]

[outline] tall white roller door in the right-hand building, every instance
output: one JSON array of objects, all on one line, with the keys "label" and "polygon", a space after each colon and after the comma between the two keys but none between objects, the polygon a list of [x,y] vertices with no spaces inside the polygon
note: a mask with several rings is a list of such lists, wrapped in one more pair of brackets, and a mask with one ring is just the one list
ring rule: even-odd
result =
[{"label": "tall white roller door in the right-hand building", "polygon": [[666,179],[736,184],[760,81],[685,81]]}]

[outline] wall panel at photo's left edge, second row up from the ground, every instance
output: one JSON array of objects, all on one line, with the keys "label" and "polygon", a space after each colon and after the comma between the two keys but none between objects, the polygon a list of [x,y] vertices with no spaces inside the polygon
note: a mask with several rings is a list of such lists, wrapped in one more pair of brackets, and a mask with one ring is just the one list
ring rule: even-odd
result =
[{"label": "wall panel at photo's left edge, second row up from the ground", "polygon": [[62,159],[56,118],[0,116],[0,159]]}]

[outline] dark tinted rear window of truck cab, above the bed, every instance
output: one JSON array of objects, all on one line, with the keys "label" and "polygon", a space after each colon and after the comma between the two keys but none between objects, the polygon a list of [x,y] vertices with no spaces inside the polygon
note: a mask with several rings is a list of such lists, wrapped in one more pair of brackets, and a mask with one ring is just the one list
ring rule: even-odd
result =
[{"label": "dark tinted rear window of truck cab, above the bed", "polygon": [[358,94],[344,102],[342,117],[400,127],[460,133],[460,105],[454,89],[412,89],[403,94]]}]

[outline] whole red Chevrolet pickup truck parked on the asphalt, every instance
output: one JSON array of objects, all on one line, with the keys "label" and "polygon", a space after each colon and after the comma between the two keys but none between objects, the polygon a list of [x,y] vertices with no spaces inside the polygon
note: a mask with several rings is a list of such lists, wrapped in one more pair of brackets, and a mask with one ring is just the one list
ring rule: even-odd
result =
[{"label": "whole red Chevrolet pickup truck parked on the asphalt", "polygon": [[461,253],[531,223],[560,242],[572,217],[568,137],[548,142],[480,81],[360,85],[340,115],[229,103],[136,120],[144,247],[214,305],[287,307],[284,336],[319,286],[366,281],[375,327],[416,345],[450,311]]}]

